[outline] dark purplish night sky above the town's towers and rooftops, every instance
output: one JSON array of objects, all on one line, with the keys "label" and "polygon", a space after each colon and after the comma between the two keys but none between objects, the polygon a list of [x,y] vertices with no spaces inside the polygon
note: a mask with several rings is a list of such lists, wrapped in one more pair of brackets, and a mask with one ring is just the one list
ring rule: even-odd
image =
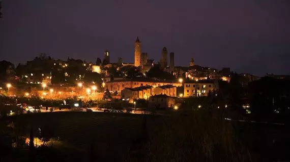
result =
[{"label": "dark purplish night sky above the town's towers and rooftops", "polygon": [[[111,62],[134,59],[134,41],[158,61],[264,75],[290,74],[287,0],[4,0],[0,60],[25,63],[40,53]],[[168,54],[169,56],[169,54]],[[169,59],[168,59],[169,60]]]}]

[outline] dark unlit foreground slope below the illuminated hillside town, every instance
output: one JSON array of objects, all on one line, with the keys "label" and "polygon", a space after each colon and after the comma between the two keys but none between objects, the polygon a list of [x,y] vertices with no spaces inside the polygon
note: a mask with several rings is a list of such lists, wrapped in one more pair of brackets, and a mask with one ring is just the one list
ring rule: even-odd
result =
[{"label": "dark unlit foreground slope below the illuminated hillside town", "polygon": [[27,126],[23,129],[27,137],[31,126],[35,135],[39,128],[51,130],[57,141],[54,153],[43,155],[50,161],[86,161],[92,155],[96,161],[290,159],[286,126],[229,123],[203,113],[189,115],[146,115],[146,125],[141,114],[92,112],[25,114],[9,120],[16,127]]}]

